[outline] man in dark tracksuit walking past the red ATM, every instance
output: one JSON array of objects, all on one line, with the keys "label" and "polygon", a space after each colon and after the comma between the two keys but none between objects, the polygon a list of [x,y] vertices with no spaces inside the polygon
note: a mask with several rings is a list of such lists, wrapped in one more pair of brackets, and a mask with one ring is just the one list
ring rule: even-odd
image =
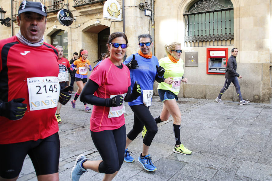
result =
[{"label": "man in dark tracksuit walking past the red ATM", "polygon": [[215,98],[215,100],[220,104],[223,104],[223,101],[221,100],[221,96],[222,96],[222,94],[224,94],[225,90],[228,89],[228,86],[230,85],[231,82],[235,86],[237,95],[238,95],[239,100],[240,100],[240,105],[249,103],[249,100],[244,100],[243,99],[243,97],[241,95],[241,91],[240,91],[240,85],[239,85],[239,82],[238,82],[238,79],[237,79],[237,77],[242,78],[242,76],[239,75],[236,72],[236,69],[237,69],[237,63],[236,63],[237,54],[238,54],[238,49],[233,48],[232,49],[232,56],[230,56],[228,58],[226,73],[225,73],[225,78],[226,78],[225,84],[224,84],[224,87],[220,90],[218,97]]}]

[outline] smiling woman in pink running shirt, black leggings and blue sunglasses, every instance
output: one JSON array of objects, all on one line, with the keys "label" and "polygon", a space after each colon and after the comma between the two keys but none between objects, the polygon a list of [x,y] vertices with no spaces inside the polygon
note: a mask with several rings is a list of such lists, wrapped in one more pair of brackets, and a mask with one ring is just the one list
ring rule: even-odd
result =
[{"label": "smiling woman in pink running shirt, black leggings and blue sunglasses", "polygon": [[78,181],[87,169],[105,173],[103,181],[112,180],[121,168],[126,144],[123,101],[131,102],[141,95],[141,87],[134,84],[131,92],[130,72],[123,62],[128,40],[124,33],[108,37],[109,58],[92,72],[83,88],[80,101],[92,104],[90,120],[92,140],[102,160],[90,161],[80,154],[71,171],[71,179]]}]

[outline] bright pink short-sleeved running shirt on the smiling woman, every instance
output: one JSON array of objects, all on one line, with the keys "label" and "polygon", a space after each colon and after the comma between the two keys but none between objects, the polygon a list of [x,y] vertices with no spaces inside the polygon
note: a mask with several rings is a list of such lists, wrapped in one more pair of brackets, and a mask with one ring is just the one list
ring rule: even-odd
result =
[{"label": "bright pink short-sleeved running shirt on the smiling woman", "polygon": [[[104,99],[112,98],[111,95],[124,95],[125,97],[130,86],[130,72],[128,67],[123,64],[122,69],[120,69],[109,58],[103,60],[93,70],[89,79],[99,85],[94,95]],[[118,116],[111,116],[111,114],[116,113],[115,110],[120,114]],[[100,132],[118,129],[124,124],[124,114],[118,110],[118,107],[93,106],[90,119],[91,131]]]}]

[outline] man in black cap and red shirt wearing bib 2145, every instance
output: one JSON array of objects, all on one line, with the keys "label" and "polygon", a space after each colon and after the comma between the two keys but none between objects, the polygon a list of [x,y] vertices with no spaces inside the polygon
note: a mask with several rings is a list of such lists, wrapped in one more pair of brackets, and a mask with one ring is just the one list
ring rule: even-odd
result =
[{"label": "man in black cap and red shirt wearing bib 2145", "polygon": [[58,51],[44,42],[47,12],[23,1],[16,36],[0,40],[0,180],[16,180],[28,154],[37,179],[58,181]]}]

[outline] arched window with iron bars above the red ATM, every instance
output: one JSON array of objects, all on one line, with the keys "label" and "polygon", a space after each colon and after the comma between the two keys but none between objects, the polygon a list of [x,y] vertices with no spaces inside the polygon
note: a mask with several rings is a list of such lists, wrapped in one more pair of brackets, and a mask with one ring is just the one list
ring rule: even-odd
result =
[{"label": "arched window with iron bars above the red ATM", "polygon": [[185,47],[233,45],[233,5],[230,0],[198,0],[183,14]]}]

